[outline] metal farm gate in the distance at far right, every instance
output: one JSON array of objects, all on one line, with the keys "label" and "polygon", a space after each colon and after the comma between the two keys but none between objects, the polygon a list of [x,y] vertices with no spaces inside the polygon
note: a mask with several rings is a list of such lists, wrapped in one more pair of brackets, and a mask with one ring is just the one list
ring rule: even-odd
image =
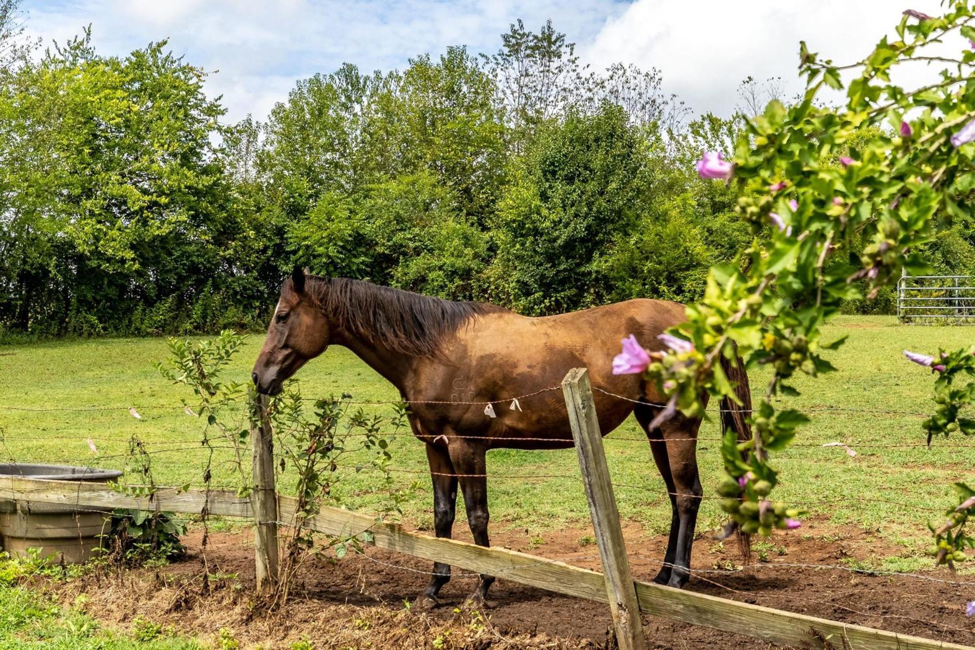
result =
[{"label": "metal farm gate in the distance at far right", "polygon": [[908,325],[975,322],[975,276],[905,275],[897,281],[897,319]]}]

